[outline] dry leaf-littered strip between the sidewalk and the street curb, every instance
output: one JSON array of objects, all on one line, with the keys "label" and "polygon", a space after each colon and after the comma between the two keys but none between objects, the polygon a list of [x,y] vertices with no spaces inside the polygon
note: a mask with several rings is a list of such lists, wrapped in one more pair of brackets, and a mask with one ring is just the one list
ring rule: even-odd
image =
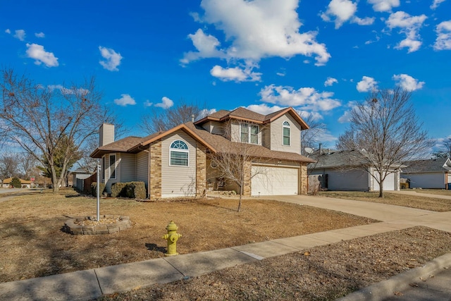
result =
[{"label": "dry leaf-littered strip between the sidewalk and the street curb", "polygon": [[451,233],[415,227],[98,300],[335,300],[447,252],[451,252]]}]

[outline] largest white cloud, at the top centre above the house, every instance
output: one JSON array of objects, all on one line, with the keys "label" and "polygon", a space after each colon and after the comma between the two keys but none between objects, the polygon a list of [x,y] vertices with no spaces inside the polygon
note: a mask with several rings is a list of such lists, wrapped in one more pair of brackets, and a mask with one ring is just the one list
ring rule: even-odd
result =
[{"label": "largest white cloud, at the top centre above the house", "polygon": [[202,0],[204,23],[225,35],[223,49],[218,38],[197,30],[189,35],[197,51],[185,53],[181,63],[202,58],[250,60],[266,57],[314,56],[316,65],[330,59],[326,46],[316,42],[317,32],[299,32],[297,0]]}]

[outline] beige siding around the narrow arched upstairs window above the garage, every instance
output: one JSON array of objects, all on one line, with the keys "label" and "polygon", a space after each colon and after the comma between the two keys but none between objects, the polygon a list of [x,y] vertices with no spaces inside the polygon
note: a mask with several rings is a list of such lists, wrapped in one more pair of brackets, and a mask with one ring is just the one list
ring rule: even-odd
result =
[{"label": "beige siding around the narrow arched upstairs window above the garage", "polygon": [[[290,123],[290,145],[283,145],[284,121]],[[271,123],[271,150],[301,153],[301,125],[289,113],[280,116]]]}]

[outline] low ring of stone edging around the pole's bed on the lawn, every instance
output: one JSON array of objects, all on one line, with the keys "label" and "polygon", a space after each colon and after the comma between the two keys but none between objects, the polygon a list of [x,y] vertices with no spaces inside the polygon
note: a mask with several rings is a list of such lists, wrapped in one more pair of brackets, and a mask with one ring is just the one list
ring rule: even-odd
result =
[{"label": "low ring of stone edging around the pole's bed on the lawn", "polygon": [[73,235],[101,235],[123,231],[132,226],[130,216],[101,215],[100,219],[117,219],[113,223],[99,223],[97,225],[78,225],[80,221],[95,221],[94,216],[78,216],[68,219],[64,223],[63,231]]}]

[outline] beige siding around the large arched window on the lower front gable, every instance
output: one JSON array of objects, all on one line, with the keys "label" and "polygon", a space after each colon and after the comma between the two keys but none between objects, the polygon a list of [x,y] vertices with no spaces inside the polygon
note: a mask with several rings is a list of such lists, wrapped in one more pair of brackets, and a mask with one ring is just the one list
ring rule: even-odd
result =
[{"label": "beige siding around the large arched window on the lower front gable", "polygon": [[[187,144],[188,166],[169,165],[169,148],[175,140],[182,140]],[[178,130],[161,139],[161,197],[195,195],[196,145],[196,140],[183,130]]]}]

